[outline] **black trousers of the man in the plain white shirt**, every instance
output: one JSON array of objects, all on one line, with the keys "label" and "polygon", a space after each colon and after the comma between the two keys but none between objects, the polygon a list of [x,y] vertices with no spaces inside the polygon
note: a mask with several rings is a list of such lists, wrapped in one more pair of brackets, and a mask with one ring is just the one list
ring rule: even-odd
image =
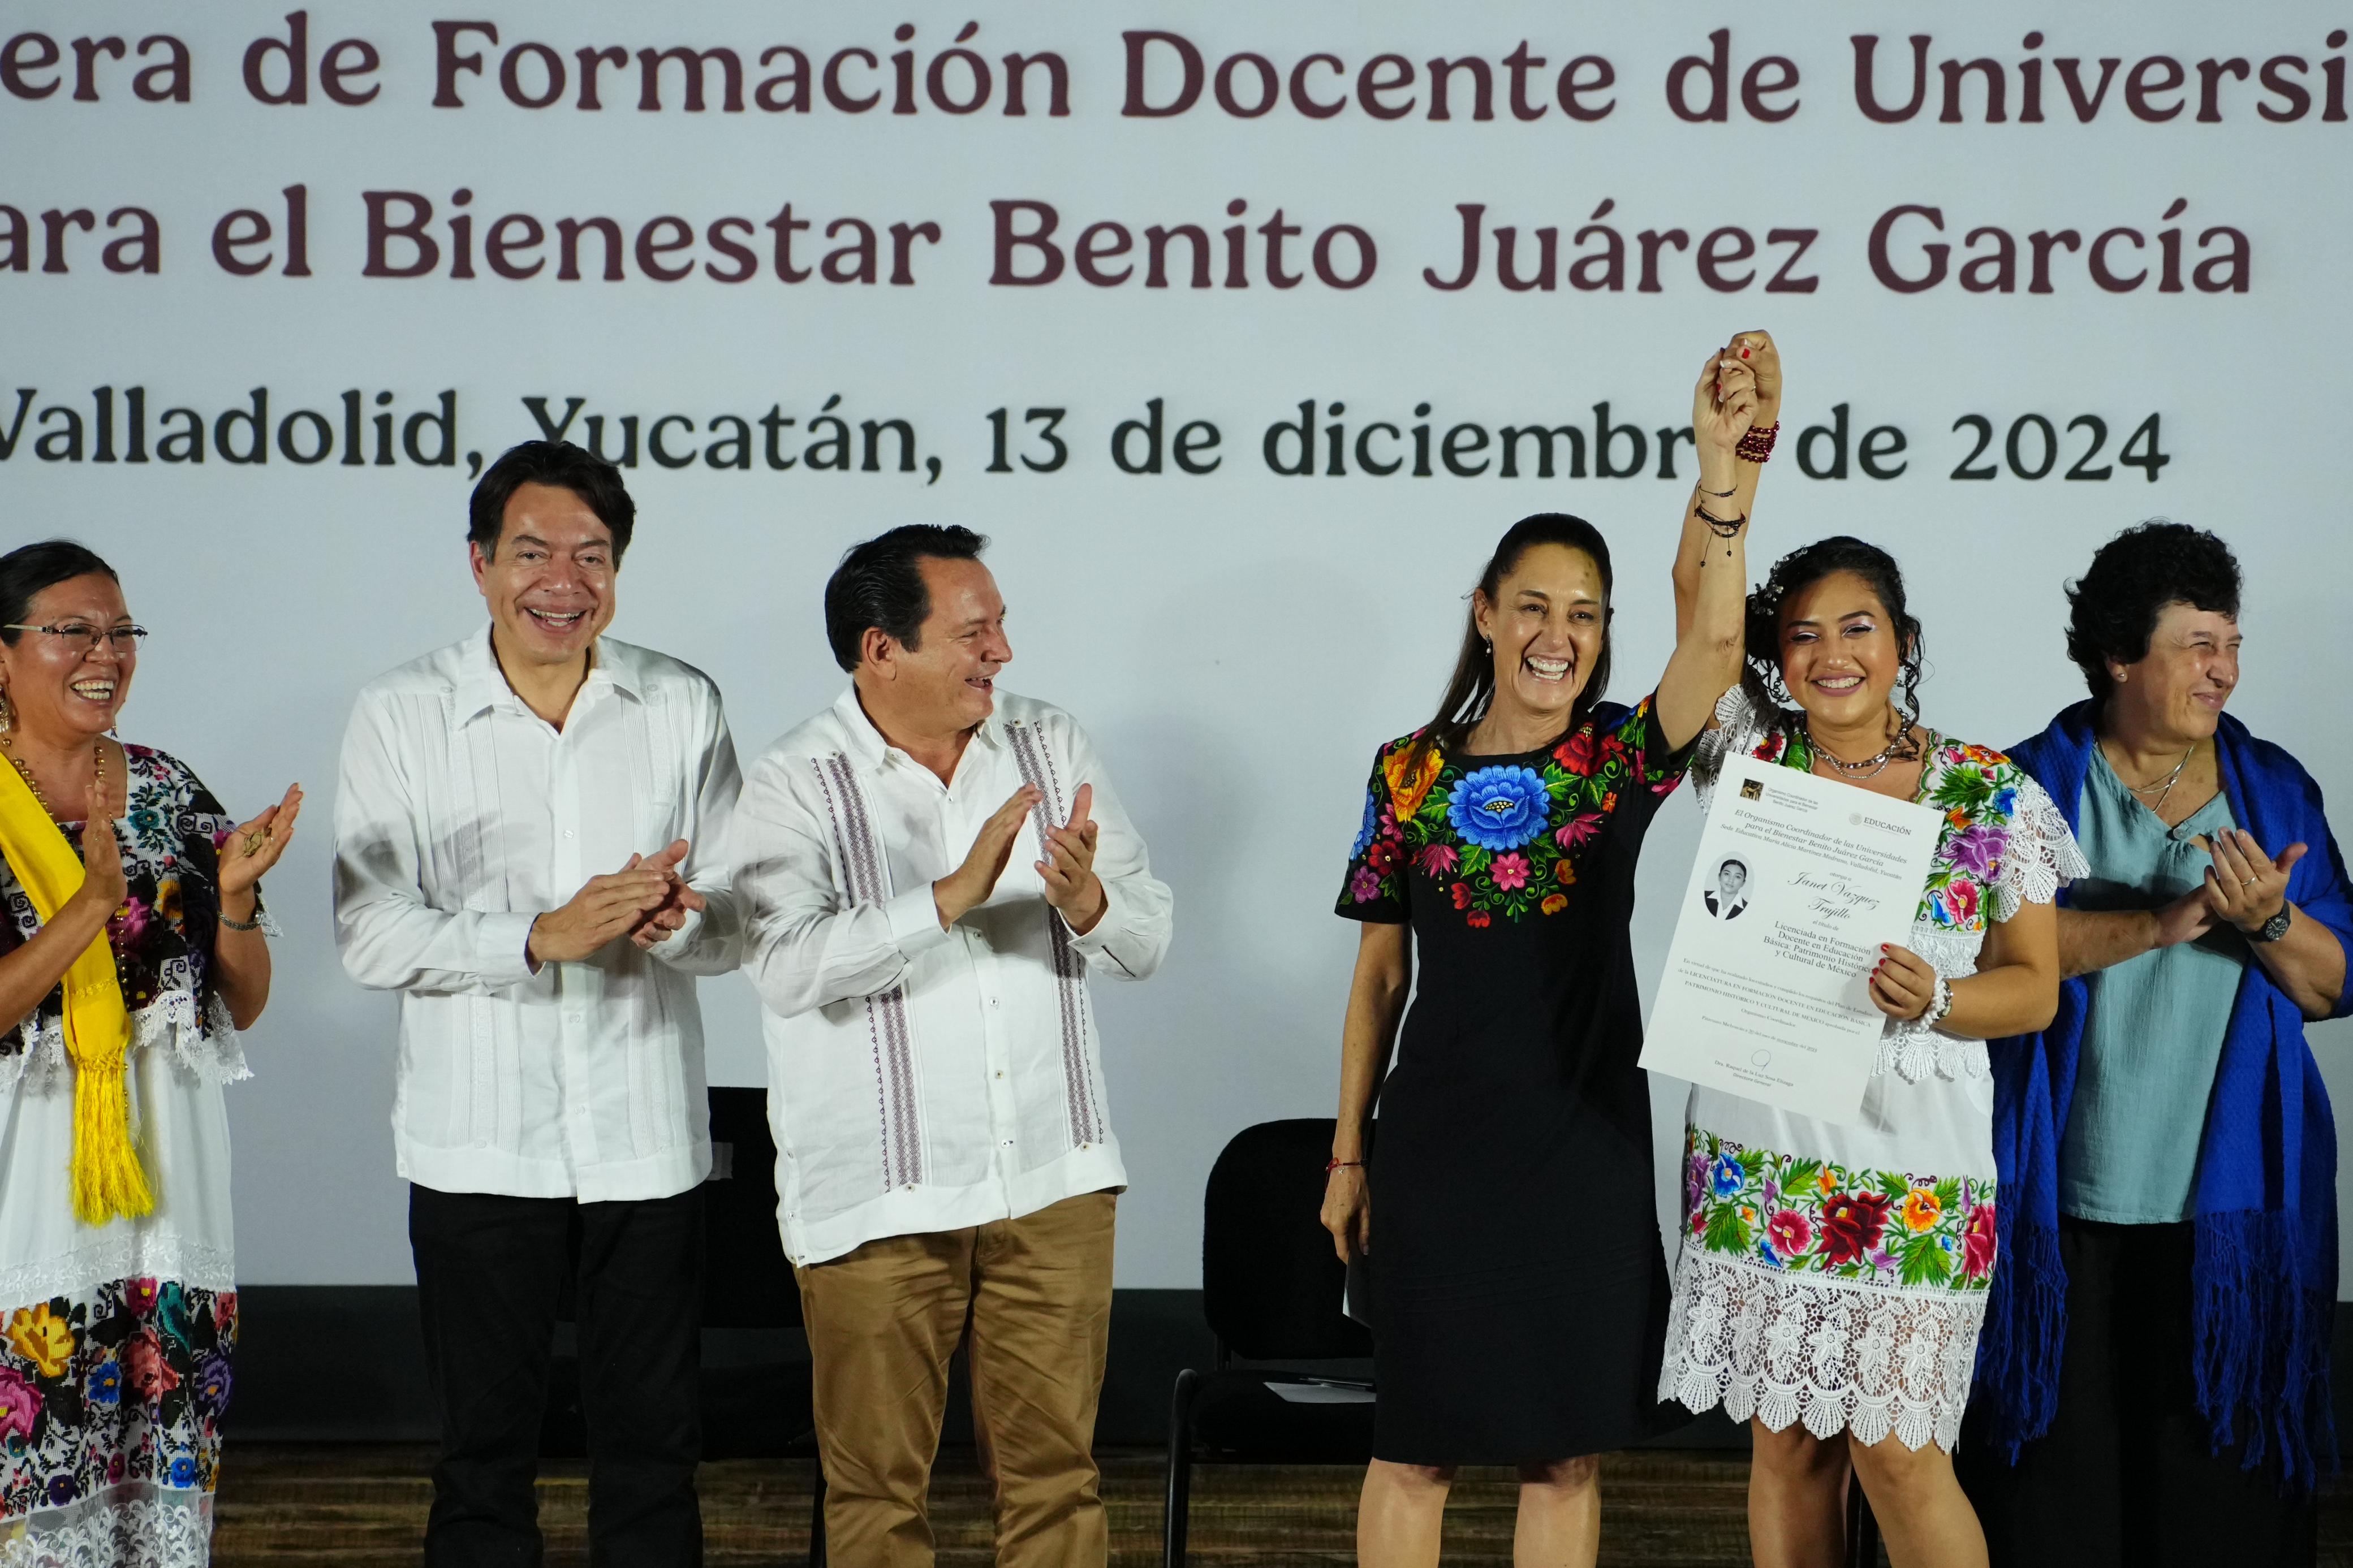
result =
[{"label": "black trousers of the man in the plain white shirt", "polygon": [[536,1568],[539,1422],[565,1279],[588,1418],[588,1561],[704,1561],[704,1194],[576,1204],[409,1187],[426,1375],[442,1415],[428,1568]]}]

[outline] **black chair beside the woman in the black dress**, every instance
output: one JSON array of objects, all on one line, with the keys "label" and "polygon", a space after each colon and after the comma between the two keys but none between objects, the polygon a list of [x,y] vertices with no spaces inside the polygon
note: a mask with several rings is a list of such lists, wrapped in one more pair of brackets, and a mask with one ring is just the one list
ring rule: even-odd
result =
[{"label": "black chair beside the woman in the black dress", "polygon": [[[1176,1373],[1169,1401],[1162,1563],[1184,1566],[1195,1460],[1362,1465],[1372,1458],[1372,1382],[1238,1368],[1233,1361],[1362,1361],[1372,1335],[1341,1314],[1346,1272],[1318,1220],[1332,1119],[1261,1121],[1209,1168],[1200,1227],[1209,1373]],[[1313,1403],[1275,1389],[1315,1389]]]}]

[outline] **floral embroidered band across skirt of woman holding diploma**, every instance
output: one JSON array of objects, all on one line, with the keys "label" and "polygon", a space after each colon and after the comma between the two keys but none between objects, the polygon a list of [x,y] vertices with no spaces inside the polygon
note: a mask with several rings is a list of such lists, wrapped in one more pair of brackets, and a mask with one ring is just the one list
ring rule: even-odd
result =
[{"label": "floral embroidered band across skirt of woman holding diploma", "polygon": [[1694,1126],[1682,1213],[1699,1246],[1767,1269],[1946,1291],[1993,1284],[1991,1180],[1861,1171]]}]

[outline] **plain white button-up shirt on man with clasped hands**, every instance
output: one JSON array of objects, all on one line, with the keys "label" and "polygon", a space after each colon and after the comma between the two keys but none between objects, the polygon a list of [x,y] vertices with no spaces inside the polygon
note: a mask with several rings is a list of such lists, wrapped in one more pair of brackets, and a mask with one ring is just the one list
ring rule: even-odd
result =
[{"label": "plain white button-up shirt on man with clasped hands", "polygon": [[[701,670],[600,637],[565,726],[506,684],[489,630],[369,682],[344,733],[334,936],[400,992],[393,1150],[442,1192],[656,1199],[711,1173],[694,976],[727,973],[739,776]],[[532,919],[673,839],[711,900],[640,950],[525,954]]]}]

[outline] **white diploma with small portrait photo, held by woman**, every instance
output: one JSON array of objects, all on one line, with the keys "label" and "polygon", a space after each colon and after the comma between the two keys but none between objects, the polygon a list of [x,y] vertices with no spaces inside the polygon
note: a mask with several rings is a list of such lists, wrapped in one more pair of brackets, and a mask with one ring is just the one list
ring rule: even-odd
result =
[{"label": "white diploma with small portrait photo, held by woman", "polygon": [[1911,933],[1944,818],[1732,757],[1715,785],[1642,1065],[1821,1121],[1859,1121],[1887,1016],[1880,943]]}]

